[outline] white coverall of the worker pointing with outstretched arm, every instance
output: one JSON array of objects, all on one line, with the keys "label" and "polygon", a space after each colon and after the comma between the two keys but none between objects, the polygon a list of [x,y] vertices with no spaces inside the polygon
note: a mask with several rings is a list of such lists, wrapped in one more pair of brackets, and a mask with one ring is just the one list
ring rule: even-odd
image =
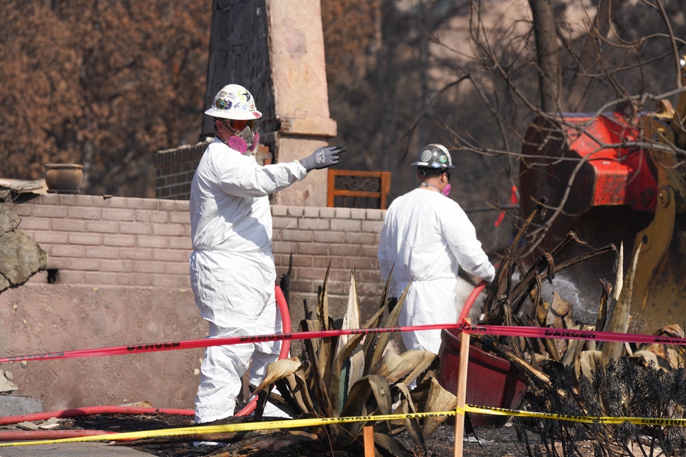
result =
[{"label": "white coverall of the worker pointing with outstretched arm", "polygon": [[[191,183],[191,286],[209,338],[281,333],[272,256],[273,192],[303,180],[299,162],[259,166],[215,138]],[[288,329],[290,331],[290,329]],[[196,396],[196,423],[233,416],[241,377],[257,386],[281,342],[207,347]]]}]

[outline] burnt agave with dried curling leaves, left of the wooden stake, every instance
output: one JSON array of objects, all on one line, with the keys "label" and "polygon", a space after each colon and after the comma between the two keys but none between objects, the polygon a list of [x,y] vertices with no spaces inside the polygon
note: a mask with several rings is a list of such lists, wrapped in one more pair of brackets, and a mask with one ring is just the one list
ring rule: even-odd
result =
[{"label": "burnt agave with dried curling leaves, left of the wooden stake", "polygon": [[[301,321],[301,331],[334,329],[333,319],[329,317],[328,278],[327,271],[322,293],[318,297],[316,319]],[[397,306],[389,312],[387,283],[377,312],[364,325],[359,325],[356,288],[353,271],[343,328],[397,326],[407,289]],[[255,393],[265,393],[275,384],[279,395],[272,393],[270,401],[298,419],[366,417],[454,409],[455,395],[445,391],[435,380],[438,371],[436,355],[427,351],[407,351],[404,354],[387,351],[390,336],[390,333],[355,334],[306,340],[300,356],[270,365],[264,382]],[[410,391],[408,385],[413,381],[417,386]],[[281,436],[285,445],[298,442],[307,452],[318,456],[358,456],[364,453],[363,428],[372,425],[377,455],[412,456],[421,449],[426,451],[425,440],[443,420],[445,418],[361,421],[318,425],[300,431],[297,436],[285,435],[285,431],[278,430],[271,436]],[[414,449],[407,449],[395,439],[397,434],[405,430],[414,441]],[[261,436],[263,442],[269,439],[269,434]],[[245,452],[255,453],[255,447],[246,444],[234,443],[222,450],[230,452],[231,449],[244,449]],[[424,455],[427,453],[424,452]]]}]

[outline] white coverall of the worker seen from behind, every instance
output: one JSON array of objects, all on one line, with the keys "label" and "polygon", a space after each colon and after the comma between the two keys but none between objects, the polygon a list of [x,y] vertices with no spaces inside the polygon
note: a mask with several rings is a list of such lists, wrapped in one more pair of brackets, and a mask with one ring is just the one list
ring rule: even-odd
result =
[{"label": "white coverall of the worker seen from behind", "polygon": [[[488,282],[495,268],[476,238],[474,225],[455,201],[416,188],[395,199],[386,211],[379,242],[379,270],[386,280],[393,267],[388,294],[400,297],[412,280],[399,317],[400,325],[456,323],[460,268]],[[407,349],[438,354],[440,330],[403,332]]]}]

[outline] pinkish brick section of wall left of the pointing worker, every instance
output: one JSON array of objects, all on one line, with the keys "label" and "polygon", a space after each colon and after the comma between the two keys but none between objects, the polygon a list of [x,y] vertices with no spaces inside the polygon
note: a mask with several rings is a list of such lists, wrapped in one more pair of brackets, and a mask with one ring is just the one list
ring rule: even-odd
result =
[{"label": "pinkish brick section of wall left of the pointing worker", "polygon": [[45,194],[11,209],[60,283],[190,286],[188,201]]}]

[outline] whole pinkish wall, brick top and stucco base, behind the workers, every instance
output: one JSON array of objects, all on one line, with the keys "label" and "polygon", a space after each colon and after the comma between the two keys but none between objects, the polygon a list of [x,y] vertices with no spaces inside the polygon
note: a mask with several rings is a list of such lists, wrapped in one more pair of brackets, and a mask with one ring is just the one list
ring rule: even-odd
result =
[{"label": "whole pinkish wall, brick top and stucco base, behind the workers", "polygon": [[[0,294],[3,356],[204,338],[193,304],[188,201],[91,195],[23,195],[19,229],[48,256],[48,271]],[[293,330],[314,310],[331,263],[333,319],[342,317],[351,270],[362,314],[378,305],[381,210],[272,206],[277,276],[293,255]],[[49,283],[49,280],[55,282]],[[307,305],[306,305],[307,304]],[[47,410],[147,400],[192,408],[202,349],[5,364],[19,392]]]}]

